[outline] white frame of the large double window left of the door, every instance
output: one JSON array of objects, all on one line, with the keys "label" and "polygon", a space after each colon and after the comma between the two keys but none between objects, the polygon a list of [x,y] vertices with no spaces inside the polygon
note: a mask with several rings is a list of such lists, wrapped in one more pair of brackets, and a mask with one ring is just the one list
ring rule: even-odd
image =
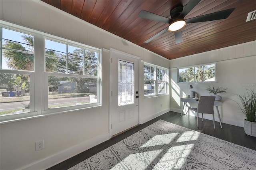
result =
[{"label": "white frame of the large double window left of the door", "polygon": [[[24,26],[19,26],[9,22],[0,20],[0,28],[6,28],[13,31],[21,32],[24,34],[29,34],[34,36],[34,70],[33,71],[20,71],[14,69],[2,69],[2,43],[0,47],[0,72],[1,73],[12,73],[12,74],[27,74],[30,75],[30,112],[23,113],[14,113],[8,115],[0,116],[0,124],[8,123],[12,121],[19,121],[23,119],[30,119],[34,117],[41,117],[45,115],[54,115],[60,113],[66,113],[70,111],[75,111],[79,109],[87,109],[91,107],[98,107],[102,105],[102,49],[97,47],[92,47],[83,43],[74,42],[66,38],[61,38]],[[0,38],[2,40],[2,30],[0,33]],[[63,74],[63,73],[49,73],[46,72],[45,68],[45,39],[53,40],[57,42],[63,42],[68,45],[75,47],[81,47],[83,49],[94,51],[98,53],[98,62],[97,62],[97,75],[75,75],[75,74]],[[83,78],[96,78],[97,79],[97,103],[88,103],[82,105],[73,105],[68,107],[59,107],[59,108],[50,108],[48,109],[48,76],[64,76],[64,77],[83,77]],[[37,92],[40,95],[36,94],[36,89],[40,88]],[[47,107],[45,107],[47,105]]]}]

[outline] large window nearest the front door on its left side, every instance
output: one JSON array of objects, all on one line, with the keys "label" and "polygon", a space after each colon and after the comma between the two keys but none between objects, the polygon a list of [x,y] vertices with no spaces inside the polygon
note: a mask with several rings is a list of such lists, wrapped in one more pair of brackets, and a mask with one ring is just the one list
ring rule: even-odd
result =
[{"label": "large window nearest the front door on its left side", "polygon": [[44,51],[49,87],[45,110],[94,103],[89,95],[98,99],[99,51],[48,38]]}]

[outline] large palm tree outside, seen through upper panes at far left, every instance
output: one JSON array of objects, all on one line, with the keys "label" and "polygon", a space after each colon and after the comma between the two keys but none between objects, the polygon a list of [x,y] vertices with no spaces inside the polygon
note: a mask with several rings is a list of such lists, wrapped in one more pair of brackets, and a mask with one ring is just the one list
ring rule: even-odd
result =
[{"label": "large palm tree outside, seen through upper panes at far left", "polygon": [[[8,60],[8,67],[18,70],[34,70],[34,37],[22,35],[26,47],[19,42],[4,40],[3,56]],[[54,55],[54,51],[46,51],[46,54]],[[52,70],[56,59],[46,58],[46,71]]]}]

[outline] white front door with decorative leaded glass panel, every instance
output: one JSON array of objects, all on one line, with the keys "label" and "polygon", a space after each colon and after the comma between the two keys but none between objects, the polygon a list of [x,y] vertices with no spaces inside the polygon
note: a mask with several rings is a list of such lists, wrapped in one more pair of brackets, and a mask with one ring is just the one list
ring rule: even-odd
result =
[{"label": "white front door with decorative leaded glass panel", "polygon": [[138,125],[140,58],[110,49],[111,134]]}]

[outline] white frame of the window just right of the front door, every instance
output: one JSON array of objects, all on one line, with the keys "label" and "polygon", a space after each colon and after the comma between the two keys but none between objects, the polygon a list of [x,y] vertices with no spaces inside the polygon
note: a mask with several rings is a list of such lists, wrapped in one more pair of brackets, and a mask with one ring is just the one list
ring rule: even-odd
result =
[{"label": "white frame of the window just right of the front door", "polygon": [[[154,78],[153,79],[144,79],[144,66],[150,66],[150,67],[154,67]],[[162,69],[162,70],[165,70],[165,80],[158,80],[157,78],[157,70],[158,69]],[[144,62],[143,64],[143,87],[144,87],[144,82],[145,81],[154,81],[155,82],[155,94],[152,94],[152,95],[145,95],[144,93],[144,98],[147,98],[147,97],[154,97],[154,96],[161,96],[161,95],[168,95],[169,91],[168,91],[168,86],[169,86],[169,82],[168,82],[168,77],[169,77],[169,69],[167,68],[164,68],[164,67],[160,67],[158,65],[154,65],[154,64],[150,64],[150,63],[146,63]],[[165,82],[165,90],[166,90],[166,93],[158,93],[158,81],[160,82]]]}]

